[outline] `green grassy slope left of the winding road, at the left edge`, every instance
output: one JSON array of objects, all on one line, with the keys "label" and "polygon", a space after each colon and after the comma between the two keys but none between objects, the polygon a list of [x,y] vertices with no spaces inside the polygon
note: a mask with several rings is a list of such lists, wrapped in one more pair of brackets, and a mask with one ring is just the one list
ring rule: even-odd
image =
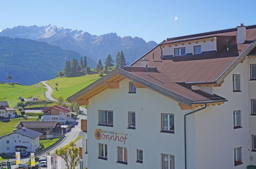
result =
[{"label": "green grassy slope left of the winding road, at the left edge", "polygon": [[46,99],[44,92],[47,89],[42,83],[36,83],[31,86],[13,85],[13,84],[0,84],[0,100],[7,100],[10,107],[15,107],[19,102],[18,97],[24,98],[38,97],[38,99]]}]

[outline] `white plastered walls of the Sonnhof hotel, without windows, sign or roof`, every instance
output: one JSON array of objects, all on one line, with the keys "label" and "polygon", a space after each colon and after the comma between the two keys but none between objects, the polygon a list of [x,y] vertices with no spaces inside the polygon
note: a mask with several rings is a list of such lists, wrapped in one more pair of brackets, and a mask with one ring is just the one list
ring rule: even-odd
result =
[{"label": "white plastered walls of the Sonnhof hotel, without windows, sign or roof", "polygon": [[[203,48],[202,48],[203,49]],[[224,79],[220,87],[194,87],[226,98],[221,105],[187,116],[187,168],[243,168],[256,164],[252,135],[256,135],[256,116],[251,115],[251,99],[256,99],[256,81],[250,80],[250,65],[256,58],[246,58]],[[233,92],[232,75],[240,75],[240,92]],[[178,102],[147,88],[129,94],[129,79],[119,89],[107,89],[89,99],[88,135],[83,136],[83,164],[97,168],[162,168],[162,154],[174,156],[175,168],[185,168],[184,115]],[[113,127],[99,125],[99,110],[113,111]],[[241,112],[241,127],[234,129],[233,112]],[[128,129],[128,112],[135,112],[136,128]],[[161,132],[161,114],[174,114],[174,133]],[[127,136],[126,143],[100,139],[96,129]],[[88,137],[88,140],[86,141]],[[85,153],[86,142],[88,154]],[[99,143],[107,144],[107,160],[99,159]],[[127,164],[117,163],[117,146],[127,147]],[[234,166],[234,149],[241,148],[243,164]],[[143,163],[136,162],[136,150],[143,150]]]}]

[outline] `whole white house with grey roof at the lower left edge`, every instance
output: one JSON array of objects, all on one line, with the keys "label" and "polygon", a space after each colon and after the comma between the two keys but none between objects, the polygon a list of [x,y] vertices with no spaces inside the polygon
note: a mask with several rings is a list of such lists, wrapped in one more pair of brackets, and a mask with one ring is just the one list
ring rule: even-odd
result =
[{"label": "whole white house with grey roof at the lower left edge", "polygon": [[43,135],[30,129],[22,128],[0,137],[0,154],[14,152],[34,152],[38,147],[39,138]]}]

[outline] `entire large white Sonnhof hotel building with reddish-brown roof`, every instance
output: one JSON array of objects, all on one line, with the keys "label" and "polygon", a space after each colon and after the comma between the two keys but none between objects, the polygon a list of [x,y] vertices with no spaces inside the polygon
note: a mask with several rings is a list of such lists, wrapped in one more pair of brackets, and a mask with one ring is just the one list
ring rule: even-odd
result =
[{"label": "entire large white Sonnhof hotel building with reddish-brown roof", "polygon": [[83,168],[255,165],[255,38],[256,25],[167,38],[70,96],[87,105]]}]

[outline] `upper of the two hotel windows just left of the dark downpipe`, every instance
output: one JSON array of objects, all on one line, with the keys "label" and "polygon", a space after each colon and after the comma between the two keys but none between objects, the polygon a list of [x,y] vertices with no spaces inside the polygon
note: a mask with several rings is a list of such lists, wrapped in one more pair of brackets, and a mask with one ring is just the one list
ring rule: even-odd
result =
[{"label": "upper of the two hotel windows just left of the dark downpipe", "polygon": [[162,132],[174,133],[173,114],[162,114]]}]

